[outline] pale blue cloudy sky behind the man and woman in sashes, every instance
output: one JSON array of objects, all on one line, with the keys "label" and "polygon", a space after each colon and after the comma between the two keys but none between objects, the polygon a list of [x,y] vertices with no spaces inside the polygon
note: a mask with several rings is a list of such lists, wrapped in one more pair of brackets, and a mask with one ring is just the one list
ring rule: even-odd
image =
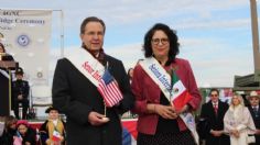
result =
[{"label": "pale blue cloudy sky behind the man and woman in sashes", "polygon": [[126,70],[143,58],[147,31],[155,23],[165,23],[176,31],[181,43],[177,57],[191,63],[198,87],[232,87],[235,75],[254,71],[249,0],[0,0],[0,9],[53,10],[52,72],[61,56],[61,43],[65,51],[79,47],[80,23],[91,15],[106,23],[105,53],[121,59]]}]

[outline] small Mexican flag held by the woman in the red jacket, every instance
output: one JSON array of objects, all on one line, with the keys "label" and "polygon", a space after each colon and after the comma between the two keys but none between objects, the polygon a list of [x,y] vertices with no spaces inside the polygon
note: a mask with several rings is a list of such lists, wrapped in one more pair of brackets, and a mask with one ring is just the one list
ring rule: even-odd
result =
[{"label": "small Mexican flag held by the woman in the red jacket", "polygon": [[182,80],[178,79],[175,71],[172,74],[172,83],[171,102],[174,104],[176,110],[181,110],[192,99],[192,96],[188,93]]}]

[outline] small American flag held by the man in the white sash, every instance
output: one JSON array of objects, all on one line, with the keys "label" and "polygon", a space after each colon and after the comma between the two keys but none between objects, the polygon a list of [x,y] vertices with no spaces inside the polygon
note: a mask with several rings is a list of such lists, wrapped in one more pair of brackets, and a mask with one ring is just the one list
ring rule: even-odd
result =
[{"label": "small American flag held by the man in the white sash", "polygon": [[117,81],[107,69],[98,83],[98,91],[101,93],[107,107],[112,107],[122,100],[122,93],[118,88]]}]

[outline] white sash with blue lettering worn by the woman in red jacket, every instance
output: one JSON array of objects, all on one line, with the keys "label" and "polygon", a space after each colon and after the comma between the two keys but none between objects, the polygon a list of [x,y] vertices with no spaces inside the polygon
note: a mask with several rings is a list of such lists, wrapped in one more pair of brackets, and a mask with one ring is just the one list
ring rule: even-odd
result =
[{"label": "white sash with blue lettering worn by the woman in red jacket", "polygon": [[[166,72],[166,70],[159,64],[159,62],[154,57],[145,58],[140,62],[143,70],[149,75],[149,77],[159,86],[163,94],[167,98],[167,100],[172,103],[171,100],[174,91],[173,85],[171,86],[171,76]],[[191,112],[185,112],[180,114],[180,118],[183,120],[187,129],[192,132],[195,142],[198,144],[198,135],[196,132],[195,119]]]}]

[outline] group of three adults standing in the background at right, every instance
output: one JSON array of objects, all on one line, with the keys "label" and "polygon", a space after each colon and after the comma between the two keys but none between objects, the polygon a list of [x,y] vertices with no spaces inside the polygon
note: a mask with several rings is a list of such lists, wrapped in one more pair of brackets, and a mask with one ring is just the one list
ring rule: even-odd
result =
[{"label": "group of three adults standing in the background at right", "polygon": [[203,104],[198,122],[201,140],[206,145],[258,145],[260,144],[260,94],[251,91],[250,102],[234,93],[230,104],[220,101],[219,91],[212,89],[210,101]]}]

